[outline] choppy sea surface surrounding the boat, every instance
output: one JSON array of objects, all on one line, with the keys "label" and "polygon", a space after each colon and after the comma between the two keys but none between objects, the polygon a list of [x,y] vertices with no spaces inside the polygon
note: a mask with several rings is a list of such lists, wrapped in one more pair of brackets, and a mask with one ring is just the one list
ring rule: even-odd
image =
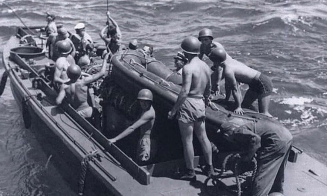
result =
[{"label": "choppy sea surface surrounding the boat", "polygon": [[[22,25],[2,2],[0,52]],[[45,25],[48,11],[71,31],[78,22],[85,23],[101,42],[105,0],[5,2],[27,25]],[[109,0],[109,10],[123,42],[153,44],[155,57],[170,67],[183,38],[196,36],[203,27],[212,29],[215,41],[232,57],[272,79],[270,113],[291,130],[297,146],[327,165],[326,0]],[[0,196],[75,195],[24,128],[9,82],[0,97]],[[241,88],[245,91],[247,85]]]}]

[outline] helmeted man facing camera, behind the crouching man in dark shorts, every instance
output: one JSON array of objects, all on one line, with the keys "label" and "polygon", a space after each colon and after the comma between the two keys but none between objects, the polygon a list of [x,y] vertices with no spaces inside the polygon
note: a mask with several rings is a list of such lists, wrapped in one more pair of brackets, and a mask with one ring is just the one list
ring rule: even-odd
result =
[{"label": "helmeted man facing camera, behind the crouching man in dark shorts", "polygon": [[[208,28],[203,28],[200,30],[198,40],[201,41],[201,48],[199,54],[200,59],[202,59],[203,55],[209,57],[210,52],[214,48],[224,48],[219,42],[213,41],[214,37],[212,35],[212,31]],[[229,58],[230,56],[227,54],[227,57]],[[213,82],[212,91],[214,92],[214,95],[218,96],[221,94],[219,84],[222,78],[223,70],[222,67],[219,67],[215,62],[214,66],[212,66],[211,69],[214,71],[214,73],[212,73],[211,75],[211,80]]]}]

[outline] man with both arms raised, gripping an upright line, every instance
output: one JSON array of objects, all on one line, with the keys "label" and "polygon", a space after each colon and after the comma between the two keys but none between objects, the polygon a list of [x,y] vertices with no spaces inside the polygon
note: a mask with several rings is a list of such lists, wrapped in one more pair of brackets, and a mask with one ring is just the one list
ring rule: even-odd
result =
[{"label": "man with both arms raised, gripping an upright line", "polygon": [[[100,31],[99,35],[109,48],[109,52],[114,54],[121,49],[122,33],[116,21],[114,21],[110,16],[109,11],[107,12],[107,19],[107,25]],[[106,31],[107,33],[105,33]]]}]

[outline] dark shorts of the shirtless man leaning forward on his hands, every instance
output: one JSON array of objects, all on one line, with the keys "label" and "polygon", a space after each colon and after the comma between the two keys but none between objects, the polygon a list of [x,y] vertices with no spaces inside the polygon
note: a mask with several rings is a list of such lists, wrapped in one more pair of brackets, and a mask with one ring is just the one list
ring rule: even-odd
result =
[{"label": "dark shorts of the shirtless man leaning forward on his hands", "polygon": [[249,84],[249,90],[258,93],[262,97],[266,97],[272,93],[272,82],[267,75],[260,74],[253,78],[251,84]]}]

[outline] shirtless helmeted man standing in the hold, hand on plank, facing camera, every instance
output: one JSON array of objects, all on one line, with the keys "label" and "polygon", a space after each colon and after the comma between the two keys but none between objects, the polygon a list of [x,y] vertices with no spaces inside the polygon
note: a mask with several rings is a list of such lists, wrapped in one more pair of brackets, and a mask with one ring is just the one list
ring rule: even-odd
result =
[{"label": "shirtless helmeted man standing in the hold, hand on plank, facing camera", "polygon": [[112,139],[108,139],[109,144],[115,143],[116,141],[125,138],[131,134],[135,129],[140,128],[141,138],[138,142],[137,147],[137,160],[142,163],[148,161],[150,157],[150,134],[153,128],[154,120],[156,118],[156,113],[152,107],[153,95],[152,92],[148,89],[142,89],[137,95],[137,99],[140,103],[142,113],[140,117],[125,129],[122,133],[117,135]]}]

